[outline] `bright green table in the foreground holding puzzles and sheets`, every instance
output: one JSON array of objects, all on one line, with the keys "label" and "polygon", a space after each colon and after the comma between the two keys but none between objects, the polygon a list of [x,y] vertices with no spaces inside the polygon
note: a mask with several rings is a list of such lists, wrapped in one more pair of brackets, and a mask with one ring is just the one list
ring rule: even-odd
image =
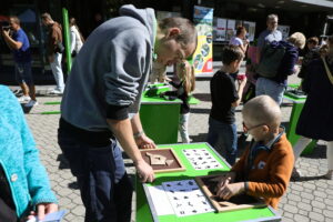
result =
[{"label": "bright green table in the foreground holding puzzles and sheets", "polygon": [[[270,206],[230,211],[223,213],[202,213],[195,215],[188,215],[178,218],[175,214],[157,215],[154,208],[150,208],[152,204],[151,196],[147,195],[145,191],[148,186],[161,185],[162,182],[178,181],[194,179],[198,175],[216,174],[222,171],[229,171],[230,165],[224,161],[208,143],[191,143],[191,144],[169,144],[160,145],[159,148],[172,148],[178,154],[180,161],[186,168],[183,172],[159,173],[155,174],[155,181],[153,183],[135,182],[137,189],[137,222],[205,222],[205,221],[281,221],[281,216]],[[200,170],[196,171],[192,168],[190,162],[184,157],[183,149],[199,149],[205,148],[209,152],[222,164],[223,169],[220,170]],[[145,191],[144,191],[145,190]],[[167,203],[165,203],[167,204]],[[153,210],[151,210],[153,209]]]}]

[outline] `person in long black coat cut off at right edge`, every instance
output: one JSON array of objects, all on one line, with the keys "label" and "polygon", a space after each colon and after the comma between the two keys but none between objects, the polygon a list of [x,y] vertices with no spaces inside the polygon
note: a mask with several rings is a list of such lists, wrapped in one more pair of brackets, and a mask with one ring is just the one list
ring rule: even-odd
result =
[{"label": "person in long black coat cut off at right edge", "polygon": [[[304,148],[313,140],[327,142],[327,167],[325,174],[333,179],[333,36],[329,38],[329,54],[314,60],[309,65],[309,72],[302,84],[307,93],[304,108],[301,112],[296,133],[302,135],[294,145],[295,160]],[[294,169],[293,178],[301,176]]]}]

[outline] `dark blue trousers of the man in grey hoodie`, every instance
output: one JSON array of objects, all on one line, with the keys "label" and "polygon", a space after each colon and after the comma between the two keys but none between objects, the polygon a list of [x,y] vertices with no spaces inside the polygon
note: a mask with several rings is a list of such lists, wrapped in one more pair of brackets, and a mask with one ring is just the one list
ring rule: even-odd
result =
[{"label": "dark blue trousers of the man in grey hoodie", "polygon": [[85,222],[129,222],[133,188],[117,141],[92,147],[59,129],[59,145],[77,176]]}]

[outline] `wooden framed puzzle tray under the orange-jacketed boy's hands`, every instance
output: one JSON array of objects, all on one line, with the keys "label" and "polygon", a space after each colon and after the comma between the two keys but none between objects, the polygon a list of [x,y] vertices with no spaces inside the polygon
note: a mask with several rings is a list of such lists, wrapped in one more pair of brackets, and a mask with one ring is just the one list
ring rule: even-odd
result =
[{"label": "wooden framed puzzle tray under the orange-jacketed boy's hands", "polygon": [[[224,172],[228,173],[228,172]],[[221,173],[222,174],[222,173]],[[266,206],[266,204],[254,196],[240,194],[232,196],[230,200],[225,201],[215,195],[215,188],[218,185],[218,178],[220,175],[204,175],[196,176],[195,181],[201,190],[205,193],[206,198],[210,200],[212,205],[219,212],[225,211],[235,211],[241,209],[252,209],[252,208],[262,208]]]}]

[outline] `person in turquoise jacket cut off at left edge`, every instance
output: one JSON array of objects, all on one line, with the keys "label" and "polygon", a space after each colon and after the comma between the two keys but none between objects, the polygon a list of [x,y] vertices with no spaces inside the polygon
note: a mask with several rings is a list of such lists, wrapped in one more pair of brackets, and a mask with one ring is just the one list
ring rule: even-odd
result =
[{"label": "person in turquoise jacket cut off at left edge", "polygon": [[43,219],[58,210],[57,198],[22,108],[4,85],[0,85],[0,221]]}]

